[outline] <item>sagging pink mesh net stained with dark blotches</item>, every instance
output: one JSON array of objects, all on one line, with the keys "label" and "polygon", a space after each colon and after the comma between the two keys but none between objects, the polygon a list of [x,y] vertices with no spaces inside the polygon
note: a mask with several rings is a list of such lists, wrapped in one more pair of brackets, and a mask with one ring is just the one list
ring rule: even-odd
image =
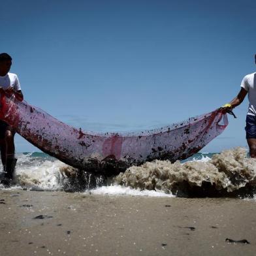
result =
[{"label": "sagging pink mesh net stained with dark blotches", "polygon": [[153,159],[185,159],[199,152],[228,125],[227,114],[217,109],[140,133],[93,133],[66,125],[14,97],[1,95],[0,103],[0,119],[42,152],[72,167],[106,175]]}]

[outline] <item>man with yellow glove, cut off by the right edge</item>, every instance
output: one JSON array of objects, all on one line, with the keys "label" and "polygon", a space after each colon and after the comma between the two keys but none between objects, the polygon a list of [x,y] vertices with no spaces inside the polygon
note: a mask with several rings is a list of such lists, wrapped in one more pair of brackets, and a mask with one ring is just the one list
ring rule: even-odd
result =
[{"label": "man with yellow glove, cut off by the right edge", "polygon": [[[256,64],[256,54],[255,54]],[[256,158],[256,72],[244,77],[238,95],[223,107],[227,110],[238,106],[244,101],[248,93],[249,108],[246,116],[246,139],[249,146],[250,157]]]}]

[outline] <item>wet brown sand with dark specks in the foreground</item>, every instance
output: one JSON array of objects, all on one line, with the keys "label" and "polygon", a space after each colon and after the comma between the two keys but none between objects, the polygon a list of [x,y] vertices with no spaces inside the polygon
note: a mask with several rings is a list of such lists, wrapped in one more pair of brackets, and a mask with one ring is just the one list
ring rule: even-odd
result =
[{"label": "wet brown sand with dark specks in the foreground", "polygon": [[[255,255],[256,201],[0,191],[0,255]],[[229,244],[246,239],[250,244]]]}]

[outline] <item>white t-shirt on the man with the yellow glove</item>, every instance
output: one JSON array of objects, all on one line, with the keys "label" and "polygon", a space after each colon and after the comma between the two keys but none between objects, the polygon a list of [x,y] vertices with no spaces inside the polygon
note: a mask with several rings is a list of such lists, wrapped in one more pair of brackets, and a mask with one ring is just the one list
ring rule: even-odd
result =
[{"label": "white t-shirt on the man with the yellow glove", "polygon": [[244,76],[241,87],[248,91],[248,115],[256,116],[256,72]]}]

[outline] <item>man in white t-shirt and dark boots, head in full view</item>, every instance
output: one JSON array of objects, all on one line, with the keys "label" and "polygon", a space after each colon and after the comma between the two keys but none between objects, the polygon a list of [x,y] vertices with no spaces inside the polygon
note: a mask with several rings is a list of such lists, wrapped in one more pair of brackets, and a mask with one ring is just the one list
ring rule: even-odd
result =
[{"label": "man in white t-shirt and dark boots, head in full view", "polygon": [[[23,101],[20,82],[16,74],[10,73],[12,57],[8,54],[0,54],[0,93],[14,95],[19,101]],[[5,121],[0,120],[0,146],[1,160],[3,163],[2,183],[12,182],[12,174],[16,165],[14,146],[14,129]]]}]

